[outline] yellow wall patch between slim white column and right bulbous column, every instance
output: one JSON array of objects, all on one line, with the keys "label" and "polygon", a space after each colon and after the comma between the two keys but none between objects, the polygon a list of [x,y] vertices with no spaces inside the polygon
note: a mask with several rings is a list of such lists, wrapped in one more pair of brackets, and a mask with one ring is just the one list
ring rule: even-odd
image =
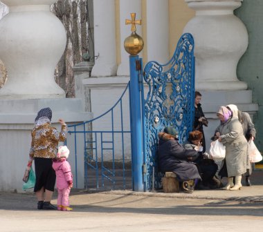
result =
[{"label": "yellow wall patch between slim white column and right bulbous column", "polygon": [[188,4],[185,3],[185,0],[169,0],[170,57],[174,55],[177,42],[183,34],[183,28],[186,23],[194,17],[194,14],[194,10],[188,8]]}]

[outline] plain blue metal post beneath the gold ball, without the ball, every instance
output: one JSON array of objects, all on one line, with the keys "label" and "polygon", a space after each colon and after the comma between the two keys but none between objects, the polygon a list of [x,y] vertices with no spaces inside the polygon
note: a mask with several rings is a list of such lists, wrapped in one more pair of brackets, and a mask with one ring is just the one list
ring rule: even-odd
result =
[{"label": "plain blue metal post beneath the gold ball, without the ball", "polygon": [[131,118],[131,162],[133,171],[133,190],[143,192],[143,129],[140,109],[139,72],[136,61],[141,64],[138,55],[129,56],[130,72],[130,118]]}]

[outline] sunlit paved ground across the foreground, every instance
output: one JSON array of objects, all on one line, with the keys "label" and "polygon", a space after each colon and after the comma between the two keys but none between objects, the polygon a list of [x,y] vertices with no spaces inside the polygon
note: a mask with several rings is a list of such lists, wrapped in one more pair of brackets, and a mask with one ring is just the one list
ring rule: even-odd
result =
[{"label": "sunlit paved ground across the foreground", "polygon": [[0,231],[262,231],[263,172],[253,175],[241,191],[73,191],[72,212],[37,211],[33,193],[0,193]]}]

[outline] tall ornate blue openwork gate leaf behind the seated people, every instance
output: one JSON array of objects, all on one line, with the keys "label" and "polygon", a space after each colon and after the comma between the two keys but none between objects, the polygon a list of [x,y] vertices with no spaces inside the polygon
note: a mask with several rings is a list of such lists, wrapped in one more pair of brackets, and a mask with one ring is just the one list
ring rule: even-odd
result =
[{"label": "tall ornate blue openwork gate leaf behind the seated people", "polygon": [[185,142],[194,119],[194,39],[184,34],[167,64],[149,61],[143,72],[147,93],[142,93],[144,125],[144,188],[158,188],[158,133],[165,126],[179,131]]}]

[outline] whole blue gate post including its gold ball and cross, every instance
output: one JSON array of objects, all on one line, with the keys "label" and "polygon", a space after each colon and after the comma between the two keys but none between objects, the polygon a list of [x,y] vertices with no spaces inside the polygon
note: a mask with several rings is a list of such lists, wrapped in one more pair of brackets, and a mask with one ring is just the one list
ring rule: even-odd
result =
[{"label": "whole blue gate post including its gold ball and cross", "polygon": [[129,53],[129,105],[131,118],[131,163],[133,190],[143,192],[143,125],[140,109],[140,70],[142,59],[138,53],[143,50],[143,39],[136,34],[136,24],[141,20],[135,20],[136,14],[131,13],[131,20],[126,19],[125,24],[131,24],[131,35],[124,41],[125,50]]}]

